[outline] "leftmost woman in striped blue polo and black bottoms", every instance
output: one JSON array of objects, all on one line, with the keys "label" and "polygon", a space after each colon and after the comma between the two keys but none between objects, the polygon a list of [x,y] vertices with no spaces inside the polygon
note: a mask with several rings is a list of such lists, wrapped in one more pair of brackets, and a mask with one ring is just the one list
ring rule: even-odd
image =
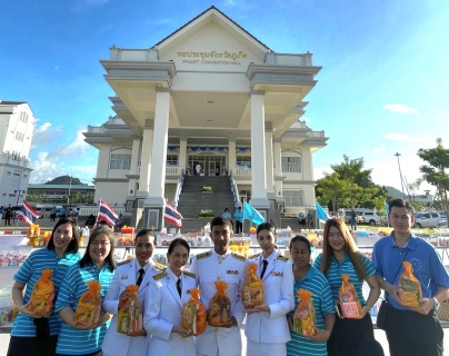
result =
[{"label": "leftmost woman in striped blue polo and black bottoms", "polygon": [[[59,220],[51,233],[47,248],[33,251],[13,276],[12,300],[19,308],[9,342],[8,356],[54,355],[61,319],[58,313],[48,318],[28,312],[31,291],[42,276],[42,269],[53,270],[51,280],[58,298],[59,287],[70,266],[81,256],[78,254],[78,222],[73,218]],[[27,291],[23,297],[23,289]]]}]

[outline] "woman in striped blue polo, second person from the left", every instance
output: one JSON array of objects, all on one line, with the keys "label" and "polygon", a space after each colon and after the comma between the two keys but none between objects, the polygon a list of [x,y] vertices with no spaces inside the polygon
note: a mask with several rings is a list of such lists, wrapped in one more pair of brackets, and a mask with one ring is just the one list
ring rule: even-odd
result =
[{"label": "woman in striped blue polo, second person from the left", "polygon": [[81,295],[88,290],[88,281],[99,280],[100,295],[104,298],[114,268],[113,231],[108,226],[100,226],[90,233],[84,256],[68,270],[59,290],[54,310],[61,316],[62,324],[57,355],[101,355],[101,344],[112,315],[101,313],[98,325],[89,329],[76,326],[73,315]]}]

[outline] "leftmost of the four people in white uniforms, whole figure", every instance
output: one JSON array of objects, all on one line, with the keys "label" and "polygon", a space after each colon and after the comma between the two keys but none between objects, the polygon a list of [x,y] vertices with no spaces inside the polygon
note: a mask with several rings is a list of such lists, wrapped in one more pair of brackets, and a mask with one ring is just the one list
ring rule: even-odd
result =
[{"label": "leftmost of the four people in white uniforms, whole figure", "polygon": [[[151,336],[142,333],[140,336],[127,336],[117,333],[117,316],[121,303],[128,298],[126,287],[140,285],[139,303],[146,309],[146,295],[152,276],[167,268],[156,264],[151,258],[154,250],[156,236],[152,230],[143,229],[136,235],[136,258],[118,264],[108,294],[103,300],[103,309],[113,314],[102,345],[103,356],[147,356]],[[143,271],[142,271],[142,270]],[[142,277],[140,277],[142,276]]]}]

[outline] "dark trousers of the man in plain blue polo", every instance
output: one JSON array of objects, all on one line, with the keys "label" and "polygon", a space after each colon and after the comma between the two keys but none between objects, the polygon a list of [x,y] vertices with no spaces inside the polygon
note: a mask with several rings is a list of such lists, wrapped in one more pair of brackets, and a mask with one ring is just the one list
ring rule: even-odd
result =
[{"label": "dark trousers of the man in plain blue polo", "polygon": [[435,312],[422,315],[388,305],[386,334],[390,356],[443,356],[443,336]]}]

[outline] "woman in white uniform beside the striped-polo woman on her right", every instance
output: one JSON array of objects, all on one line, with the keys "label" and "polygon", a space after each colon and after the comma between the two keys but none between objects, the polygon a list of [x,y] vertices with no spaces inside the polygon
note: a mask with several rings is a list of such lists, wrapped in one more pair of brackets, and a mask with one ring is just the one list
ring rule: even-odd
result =
[{"label": "woman in white uniform beside the striped-polo woman on her right", "polygon": [[276,250],[277,239],[272,224],[258,226],[257,240],[262,253],[249,257],[249,263],[258,266],[265,303],[247,309],[247,356],[287,355],[286,343],[290,340],[290,332],[286,315],[295,308],[295,277],[291,261]]}]

